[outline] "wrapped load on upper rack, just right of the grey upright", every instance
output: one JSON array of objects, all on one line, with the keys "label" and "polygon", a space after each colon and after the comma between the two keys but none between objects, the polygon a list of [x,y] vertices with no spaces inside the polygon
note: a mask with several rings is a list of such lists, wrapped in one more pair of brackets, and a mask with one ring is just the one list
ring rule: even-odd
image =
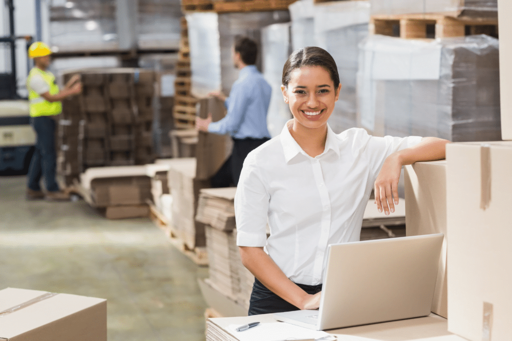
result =
[{"label": "wrapped load on upper rack, just right of the grey upright", "polygon": [[139,0],[139,48],[177,49],[181,16],[180,0]]}]

